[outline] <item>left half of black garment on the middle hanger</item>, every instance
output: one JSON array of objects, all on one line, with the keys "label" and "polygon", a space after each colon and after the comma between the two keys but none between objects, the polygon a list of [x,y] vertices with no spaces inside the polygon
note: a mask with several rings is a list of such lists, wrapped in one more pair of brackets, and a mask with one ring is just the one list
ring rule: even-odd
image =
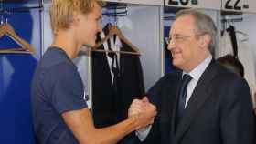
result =
[{"label": "left half of black garment on the middle hanger", "polygon": [[[100,49],[103,49],[100,47]],[[105,53],[92,53],[92,108],[95,127],[115,124],[114,88]]]}]

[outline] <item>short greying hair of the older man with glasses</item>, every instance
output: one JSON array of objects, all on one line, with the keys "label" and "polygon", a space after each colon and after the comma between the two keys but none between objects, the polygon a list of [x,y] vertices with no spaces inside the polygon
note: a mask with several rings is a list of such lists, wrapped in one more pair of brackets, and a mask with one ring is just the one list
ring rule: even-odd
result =
[{"label": "short greying hair of the older man with glasses", "polygon": [[189,8],[183,9],[176,13],[176,18],[183,15],[192,15],[195,19],[196,31],[198,33],[207,33],[211,37],[211,43],[209,45],[209,51],[213,54],[214,48],[217,43],[217,27],[214,24],[212,18],[197,9]]}]

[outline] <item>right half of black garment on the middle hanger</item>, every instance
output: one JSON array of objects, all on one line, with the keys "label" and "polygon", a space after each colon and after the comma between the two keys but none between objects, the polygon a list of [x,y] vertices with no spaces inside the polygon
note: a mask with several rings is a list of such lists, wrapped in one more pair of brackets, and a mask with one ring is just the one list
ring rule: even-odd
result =
[{"label": "right half of black garment on the middle hanger", "polygon": [[[123,43],[121,51],[133,52],[133,49]],[[134,98],[142,98],[144,95],[144,77],[140,57],[131,54],[120,54],[120,88],[122,103],[117,104],[121,119],[127,118],[128,108]],[[121,105],[120,105],[121,104]],[[121,120],[119,119],[119,121]]]}]

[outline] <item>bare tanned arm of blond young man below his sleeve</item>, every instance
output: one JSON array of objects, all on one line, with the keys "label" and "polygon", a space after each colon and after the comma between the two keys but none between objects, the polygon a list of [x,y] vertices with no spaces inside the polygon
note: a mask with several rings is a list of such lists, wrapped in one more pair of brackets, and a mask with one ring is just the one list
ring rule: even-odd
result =
[{"label": "bare tanned arm of blond young man below his sleeve", "polygon": [[140,117],[133,116],[116,125],[96,129],[88,109],[63,114],[65,122],[80,144],[114,144],[140,126]]}]

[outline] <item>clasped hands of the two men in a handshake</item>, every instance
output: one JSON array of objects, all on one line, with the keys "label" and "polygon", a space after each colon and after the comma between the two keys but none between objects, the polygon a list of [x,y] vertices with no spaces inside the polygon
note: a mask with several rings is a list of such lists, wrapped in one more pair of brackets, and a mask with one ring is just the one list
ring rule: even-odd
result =
[{"label": "clasped hands of the two men in a handshake", "polygon": [[149,102],[148,98],[133,99],[133,103],[128,109],[128,118],[134,118],[136,121],[136,130],[143,129],[153,124],[156,116],[155,105]]}]

